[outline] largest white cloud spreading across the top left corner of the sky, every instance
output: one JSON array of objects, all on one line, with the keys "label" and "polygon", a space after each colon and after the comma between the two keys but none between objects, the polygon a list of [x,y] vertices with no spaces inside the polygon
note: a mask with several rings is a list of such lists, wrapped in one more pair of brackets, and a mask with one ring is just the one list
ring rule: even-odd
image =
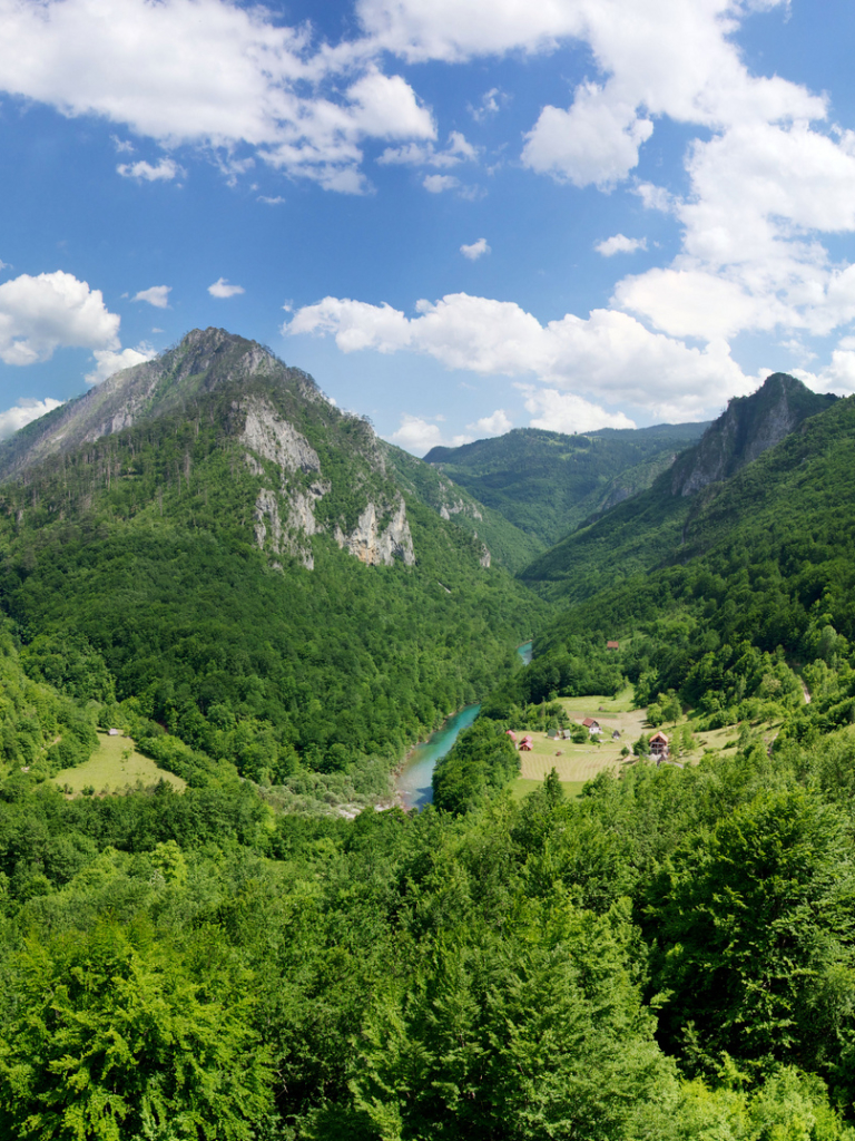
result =
[{"label": "largest white cloud spreading across the top left corner of the sky", "polygon": [[[359,191],[365,138],[432,139],[430,111],[378,44],[315,44],[308,25],[229,0],[0,0],[0,89],[97,115],[172,149],[236,148],[288,175]],[[125,177],[169,179],[173,160],[123,164]]]}]

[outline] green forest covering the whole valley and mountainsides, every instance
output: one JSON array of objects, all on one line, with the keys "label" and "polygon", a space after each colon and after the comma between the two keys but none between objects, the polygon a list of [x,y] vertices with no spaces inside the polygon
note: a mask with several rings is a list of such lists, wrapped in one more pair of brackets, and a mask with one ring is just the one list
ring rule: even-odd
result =
[{"label": "green forest covering the whole valley and mountainsides", "polygon": [[[675,485],[717,422],[538,557],[540,461],[484,505],[193,338],[136,422],[0,455],[0,1135],[855,1141],[855,399],[733,402],[720,478]],[[368,504],[412,558],[348,548]],[[586,698],[619,763],[521,778]],[[111,730],[150,777],[72,787]]]}]

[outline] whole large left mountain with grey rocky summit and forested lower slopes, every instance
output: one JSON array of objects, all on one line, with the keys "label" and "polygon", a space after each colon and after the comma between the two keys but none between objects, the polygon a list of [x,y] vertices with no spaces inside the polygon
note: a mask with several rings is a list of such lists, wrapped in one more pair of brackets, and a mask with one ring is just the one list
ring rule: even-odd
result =
[{"label": "whole large left mountain with grey rocky summit and forested lower slopes", "polygon": [[222,330],[0,459],[0,607],[43,655],[100,656],[114,722],[163,763],[176,739],[267,782],[388,762],[514,669],[544,615],[466,493],[443,489],[443,518],[399,475],[418,461]]}]

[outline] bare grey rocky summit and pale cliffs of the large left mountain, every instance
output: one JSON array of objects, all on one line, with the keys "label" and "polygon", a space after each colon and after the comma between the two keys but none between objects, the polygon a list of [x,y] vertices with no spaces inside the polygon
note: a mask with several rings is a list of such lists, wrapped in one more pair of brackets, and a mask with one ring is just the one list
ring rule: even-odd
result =
[{"label": "bare grey rocky summit and pale cliffs of the large left mountain", "polygon": [[[209,395],[221,399],[204,400]],[[274,566],[275,556],[290,553],[311,569],[311,539],[329,531],[342,549],[370,566],[389,566],[396,559],[407,566],[415,563],[406,503],[386,471],[385,445],[370,422],[342,415],[308,373],[222,329],[193,330],[176,348],[115,373],[0,444],[0,479],[166,414],[195,421],[198,436],[201,406],[210,424],[222,430],[226,446],[237,445],[242,462],[258,480],[251,493],[252,527],[255,543],[271,556]],[[318,452],[295,424],[310,426],[309,431],[317,431],[324,442],[321,454],[335,455],[336,491],[345,485],[348,499],[361,494],[366,505],[348,535],[342,531],[343,508],[337,525],[327,521],[334,515],[329,510],[318,520],[318,503],[333,484],[321,472]],[[188,451],[186,487],[189,466]],[[180,477],[179,470],[179,489]],[[450,507],[451,512],[461,509],[462,504]]]}]

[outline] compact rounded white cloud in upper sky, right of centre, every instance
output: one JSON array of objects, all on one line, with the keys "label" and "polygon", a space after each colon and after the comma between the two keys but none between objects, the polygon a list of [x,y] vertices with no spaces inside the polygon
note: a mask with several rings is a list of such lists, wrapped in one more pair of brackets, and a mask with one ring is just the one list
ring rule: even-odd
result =
[{"label": "compact rounded white cloud in upper sky, right of centre", "polygon": [[614,89],[583,83],[569,111],[543,108],[526,136],[522,161],[540,175],[605,189],[637,165],[638,147],[652,133],[651,120]]}]

